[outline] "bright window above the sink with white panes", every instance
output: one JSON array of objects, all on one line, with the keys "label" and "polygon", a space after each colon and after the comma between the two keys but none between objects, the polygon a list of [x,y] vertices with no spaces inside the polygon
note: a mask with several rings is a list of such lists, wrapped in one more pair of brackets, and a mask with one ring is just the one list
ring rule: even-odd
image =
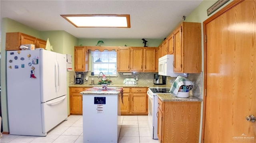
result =
[{"label": "bright window above the sink with white panes", "polygon": [[106,75],[116,75],[116,51],[91,51],[92,72]]}]

